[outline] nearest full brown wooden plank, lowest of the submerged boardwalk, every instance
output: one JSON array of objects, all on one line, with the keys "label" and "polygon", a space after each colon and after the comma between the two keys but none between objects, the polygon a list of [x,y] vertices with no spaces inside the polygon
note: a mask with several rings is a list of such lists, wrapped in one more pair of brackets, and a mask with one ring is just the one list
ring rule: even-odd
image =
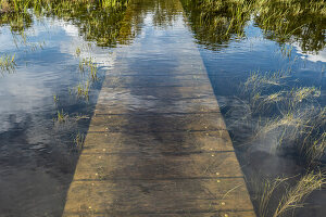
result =
[{"label": "nearest full brown wooden plank, lowest of the submerged boardwalk", "polygon": [[70,203],[66,209],[91,209],[114,216],[218,210],[250,214],[246,192],[240,179],[75,181],[71,189],[75,203]]}]

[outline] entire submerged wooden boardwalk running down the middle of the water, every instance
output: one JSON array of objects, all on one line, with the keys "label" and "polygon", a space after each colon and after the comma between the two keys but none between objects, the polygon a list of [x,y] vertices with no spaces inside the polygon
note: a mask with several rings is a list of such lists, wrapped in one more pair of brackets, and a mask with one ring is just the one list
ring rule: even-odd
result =
[{"label": "entire submerged wooden boardwalk running down the middle of the water", "polygon": [[162,1],[164,26],[160,2],[133,7],[142,30],[116,51],[63,216],[255,216],[181,4]]}]

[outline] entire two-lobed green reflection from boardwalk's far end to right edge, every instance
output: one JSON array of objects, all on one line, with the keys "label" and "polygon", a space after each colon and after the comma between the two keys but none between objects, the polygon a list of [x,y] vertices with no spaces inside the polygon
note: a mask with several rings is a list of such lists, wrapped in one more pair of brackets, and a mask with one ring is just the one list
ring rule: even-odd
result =
[{"label": "entire two-lobed green reflection from boardwalk's far end to right edge", "polygon": [[264,37],[279,43],[299,42],[317,52],[326,43],[326,5],[323,0],[181,0],[198,42],[211,49],[244,36],[253,16]]}]

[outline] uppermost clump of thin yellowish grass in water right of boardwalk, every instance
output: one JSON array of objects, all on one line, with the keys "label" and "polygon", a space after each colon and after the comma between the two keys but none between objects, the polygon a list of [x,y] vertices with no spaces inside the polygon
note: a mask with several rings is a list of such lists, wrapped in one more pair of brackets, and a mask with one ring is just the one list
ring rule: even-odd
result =
[{"label": "uppermost clump of thin yellowish grass in water right of boardwalk", "polygon": [[[294,87],[290,88],[291,73],[279,71],[276,73],[251,73],[242,86],[253,114],[285,115],[302,108],[309,104],[316,104],[321,97],[321,88]],[[294,81],[293,81],[294,82]]]}]

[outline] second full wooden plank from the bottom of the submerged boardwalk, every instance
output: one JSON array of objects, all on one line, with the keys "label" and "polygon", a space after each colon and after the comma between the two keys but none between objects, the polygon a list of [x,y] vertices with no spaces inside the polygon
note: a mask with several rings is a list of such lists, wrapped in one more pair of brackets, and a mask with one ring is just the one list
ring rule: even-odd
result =
[{"label": "second full wooden plank from the bottom of the submerged boardwalk", "polygon": [[242,177],[234,152],[83,154],[74,179],[147,180],[218,177]]}]

